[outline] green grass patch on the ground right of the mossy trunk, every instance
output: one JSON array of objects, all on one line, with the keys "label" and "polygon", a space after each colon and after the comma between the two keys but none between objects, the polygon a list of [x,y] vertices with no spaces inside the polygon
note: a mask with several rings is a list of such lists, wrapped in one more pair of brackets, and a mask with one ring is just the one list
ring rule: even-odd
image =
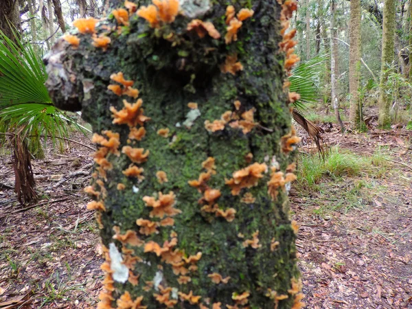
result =
[{"label": "green grass patch on the ground right of the mossy trunk", "polygon": [[295,188],[304,201],[317,205],[314,214],[318,216],[330,211],[362,209],[385,189],[376,179],[391,172],[385,154],[388,151],[378,148],[373,155],[366,156],[335,146],[324,161],[316,154],[301,155]]}]

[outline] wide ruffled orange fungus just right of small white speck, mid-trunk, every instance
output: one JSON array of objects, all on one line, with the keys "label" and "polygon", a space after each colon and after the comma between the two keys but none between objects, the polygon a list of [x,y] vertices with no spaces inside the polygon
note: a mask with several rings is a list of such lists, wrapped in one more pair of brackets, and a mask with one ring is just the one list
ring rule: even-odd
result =
[{"label": "wide ruffled orange fungus just right of small white speck, mid-trunk", "polygon": [[163,194],[159,192],[159,199],[152,196],[144,196],[144,203],[147,207],[152,207],[153,210],[150,211],[150,218],[157,217],[163,218],[164,216],[176,216],[176,214],[181,214],[180,209],[174,208],[176,205],[176,196],[172,191],[169,194]]}]

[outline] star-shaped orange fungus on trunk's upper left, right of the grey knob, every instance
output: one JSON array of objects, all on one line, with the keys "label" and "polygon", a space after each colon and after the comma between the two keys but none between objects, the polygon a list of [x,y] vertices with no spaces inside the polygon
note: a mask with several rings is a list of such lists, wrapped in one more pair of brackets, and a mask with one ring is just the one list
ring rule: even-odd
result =
[{"label": "star-shaped orange fungus on trunk's upper left, right of the grey knob", "polygon": [[145,122],[150,120],[150,117],[143,115],[144,109],[141,108],[143,100],[139,99],[136,103],[129,103],[123,100],[124,108],[117,111],[113,106],[110,106],[110,111],[113,113],[113,124],[127,124],[130,127],[135,127],[137,124],[144,126]]}]

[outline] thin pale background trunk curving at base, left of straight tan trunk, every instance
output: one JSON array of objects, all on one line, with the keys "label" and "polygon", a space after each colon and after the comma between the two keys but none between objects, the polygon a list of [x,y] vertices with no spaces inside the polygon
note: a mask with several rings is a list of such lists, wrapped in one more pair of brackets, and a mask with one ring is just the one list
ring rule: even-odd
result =
[{"label": "thin pale background trunk curving at base, left of straight tan trunk", "polygon": [[339,76],[339,67],[338,67],[338,57],[339,57],[339,49],[338,49],[338,41],[334,38],[338,37],[338,32],[335,26],[335,14],[336,14],[336,3],[334,0],[330,3],[330,45],[332,46],[331,53],[330,53],[330,85],[332,90],[332,105],[334,109],[334,113],[336,116],[336,120],[341,126],[341,130],[345,130],[345,126],[343,126],[343,122],[341,119],[341,114],[339,113],[339,96],[338,96],[338,80],[337,76]]}]

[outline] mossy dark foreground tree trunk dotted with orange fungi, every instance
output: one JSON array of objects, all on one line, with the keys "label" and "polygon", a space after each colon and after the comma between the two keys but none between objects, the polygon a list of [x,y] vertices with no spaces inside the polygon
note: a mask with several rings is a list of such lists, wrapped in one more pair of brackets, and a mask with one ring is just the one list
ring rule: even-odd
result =
[{"label": "mossy dark foreground tree trunk dotted with orange fungi", "polygon": [[[138,6],[142,4],[150,3]],[[120,2],[115,5],[123,7]],[[60,39],[47,57],[54,102],[72,111],[81,109],[93,131],[106,139],[104,130],[119,133],[118,147],[106,145],[110,151],[105,159],[112,166],[103,170],[97,165],[100,174],[96,172],[93,181],[92,194],[104,204],[98,216],[108,249],[106,266],[110,266],[104,267],[107,290],[100,297],[100,308],[132,308],[129,295],[136,299],[133,308],[166,308],[165,304],[170,308],[301,308],[295,231],[286,194],[289,184],[281,183],[274,199],[268,194],[271,174],[283,172],[288,181],[286,168],[293,163],[293,151],[285,147],[295,147],[288,95],[282,88],[286,78],[285,54],[279,51],[282,6],[275,0],[234,3],[236,12],[249,8],[254,14],[242,22],[238,40],[225,44],[227,2],[197,5],[181,3],[176,19],[158,27],[150,27],[136,14],[130,16],[129,25],[119,26],[109,14],[97,26],[98,34],[105,32],[111,38],[106,51],[93,47],[91,34],[78,34],[78,48]],[[222,37],[200,38],[196,31],[187,31],[194,18],[213,23]],[[222,73],[227,56],[235,54],[242,71]],[[109,84],[119,84],[111,74],[120,71],[126,80],[133,80],[138,98],[108,90]],[[137,125],[144,126],[146,135],[130,140],[130,127],[113,124],[110,108],[120,111],[123,100],[132,104],[137,99],[143,100],[141,107],[150,120]],[[233,104],[236,101],[239,109]],[[196,102],[197,108],[188,107],[190,102]],[[205,128],[207,120],[214,124],[227,111],[231,119],[220,122],[223,128]],[[251,132],[238,127],[248,111],[254,116]],[[133,163],[122,152],[124,146],[144,148],[148,157]],[[203,164],[209,157],[216,167]],[[253,186],[245,185],[233,195],[236,190],[227,182],[233,173],[254,163],[267,169],[256,172],[255,178],[246,176]],[[126,176],[130,164],[143,172]],[[159,181],[160,171],[167,181]],[[201,173],[209,180],[197,187],[188,183]],[[208,196],[207,192],[213,195],[211,190],[220,196]],[[176,202],[164,218],[148,205],[150,197],[159,201],[162,194],[170,194]],[[233,209],[234,218],[229,215]],[[174,222],[163,226],[166,218]],[[137,219],[150,220],[154,227],[144,229]],[[119,227],[117,233],[113,227]]]}]

